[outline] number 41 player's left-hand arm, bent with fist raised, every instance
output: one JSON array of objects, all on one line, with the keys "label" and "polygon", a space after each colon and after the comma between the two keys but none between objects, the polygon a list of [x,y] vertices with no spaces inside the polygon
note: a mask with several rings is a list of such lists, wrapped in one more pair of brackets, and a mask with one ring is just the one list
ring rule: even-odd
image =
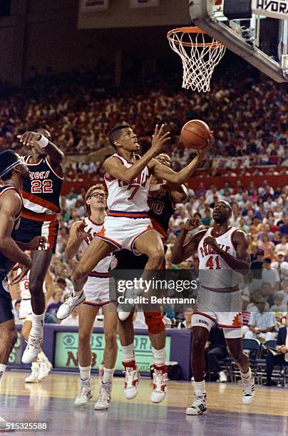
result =
[{"label": "number 41 player's left-hand arm, bent with fist raised", "polygon": [[[192,231],[192,237],[187,244],[184,244],[187,233]],[[194,233],[195,232],[195,233]],[[187,219],[185,226],[182,228],[180,235],[175,240],[175,244],[171,249],[171,262],[175,265],[185,261],[192,256],[197,250],[197,246],[206,229],[202,230],[199,219]]]}]

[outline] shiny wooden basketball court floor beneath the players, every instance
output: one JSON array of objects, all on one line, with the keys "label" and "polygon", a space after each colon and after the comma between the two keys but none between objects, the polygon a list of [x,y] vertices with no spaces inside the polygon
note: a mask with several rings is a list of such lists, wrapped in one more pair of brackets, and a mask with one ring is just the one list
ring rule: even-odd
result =
[{"label": "shiny wooden basketball court floor beneath the players", "polygon": [[[123,378],[115,378],[113,402],[108,411],[93,410],[98,377],[93,378],[94,397],[86,408],[75,408],[76,374],[53,373],[38,384],[24,383],[26,372],[9,371],[1,385],[0,415],[11,422],[47,422],[48,430],[19,430],[17,434],[47,435],[287,435],[288,390],[257,388],[251,405],[242,404],[240,385],[208,383],[207,414],[186,416],[192,400],[190,382],[170,382],[167,398],[150,403],[151,380],[141,379],[134,400],[125,400]],[[5,395],[4,395],[5,393]],[[1,432],[2,434],[11,434]]]}]

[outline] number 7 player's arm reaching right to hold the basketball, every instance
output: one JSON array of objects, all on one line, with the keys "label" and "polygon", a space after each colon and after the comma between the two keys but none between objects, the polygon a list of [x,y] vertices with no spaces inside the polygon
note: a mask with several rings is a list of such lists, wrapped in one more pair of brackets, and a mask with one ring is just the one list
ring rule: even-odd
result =
[{"label": "number 7 player's arm reaching right to hold the basketball", "polygon": [[153,159],[151,162],[150,169],[152,174],[156,177],[156,179],[164,179],[168,182],[172,182],[176,185],[182,185],[182,183],[187,182],[188,179],[192,176],[193,172],[196,170],[200,162],[205,157],[207,151],[212,147],[213,137],[211,136],[210,140],[207,140],[207,145],[197,152],[197,156],[190,162],[187,167],[184,167],[181,171],[175,172],[171,170],[171,168],[166,167],[161,164],[157,160]]}]

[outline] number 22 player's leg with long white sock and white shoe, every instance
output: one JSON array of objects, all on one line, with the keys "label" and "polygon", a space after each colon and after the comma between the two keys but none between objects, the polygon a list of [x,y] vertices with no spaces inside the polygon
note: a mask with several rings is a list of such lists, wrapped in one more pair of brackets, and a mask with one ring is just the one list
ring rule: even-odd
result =
[{"label": "number 22 player's leg with long white sock and white shoe", "polygon": [[43,283],[51,263],[52,250],[31,251],[32,266],[30,270],[29,291],[31,293],[32,328],[29,340],[22,356],[23,363],[31,363],[41,349],[43,341],[43,324],[45,318],[45,294]]}]

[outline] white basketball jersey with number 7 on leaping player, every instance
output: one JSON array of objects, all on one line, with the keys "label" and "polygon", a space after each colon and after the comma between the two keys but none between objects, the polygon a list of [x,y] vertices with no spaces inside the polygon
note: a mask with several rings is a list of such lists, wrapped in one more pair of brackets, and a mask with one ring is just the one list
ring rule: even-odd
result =
[{"label": "white basketball jersey with number 7 on leaping player", "polygon": [[[126,168],[133,165],[133,162],[128,162],[117,153],[113,157],[118,158]],[[140,156],[136,155],[136,159],[139,160]],[[131,183],[113,177],[109,179],[105,177],[108,189],[108,209],[110,211],[128,212],[127,215],[129,212],[148,212],[149,178],[150,174],[147,166]]]}]

